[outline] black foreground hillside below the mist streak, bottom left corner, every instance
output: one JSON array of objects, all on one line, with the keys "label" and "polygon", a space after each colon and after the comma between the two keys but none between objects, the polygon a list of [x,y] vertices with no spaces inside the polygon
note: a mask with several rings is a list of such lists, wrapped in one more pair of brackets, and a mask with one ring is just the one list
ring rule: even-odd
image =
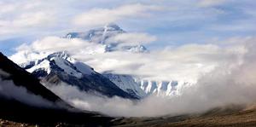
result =
[{"label": "black foreground hillside below the mist streak, bottom left corner", "polygon": [[[55,124],[77,124],[79,126],[108,126],[112,118],[97,115],[67,111],[65,109],[30,107],[14,100],[0,99],[0,119],[16,123],[55,126]],[[15,125],[15,124],[13,124]],[[0,123],[4,126],[4,123]]]}]

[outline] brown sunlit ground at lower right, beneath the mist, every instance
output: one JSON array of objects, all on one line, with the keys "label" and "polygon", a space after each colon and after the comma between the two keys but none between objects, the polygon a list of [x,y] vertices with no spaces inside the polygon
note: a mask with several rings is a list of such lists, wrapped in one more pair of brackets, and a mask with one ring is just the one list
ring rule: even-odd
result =
[{"label": "brown sunlit ground at lower right, beneath the mist", "polygon": [[161,118],[126,118],[116,121],[122,127],[255,127],[256,107],[215,108],[207,113]]}]

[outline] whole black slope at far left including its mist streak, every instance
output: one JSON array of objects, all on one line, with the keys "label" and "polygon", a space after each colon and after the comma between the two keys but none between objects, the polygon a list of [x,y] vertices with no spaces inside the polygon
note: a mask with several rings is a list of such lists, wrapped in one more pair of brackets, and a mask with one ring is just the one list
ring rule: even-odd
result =
[{"label": "whole black slope at far left including its mist streak", "polygon": [[112,118],[69,106],[37,78],[0,53],[0,118],[53,126],[57,123],[99,126]]}]

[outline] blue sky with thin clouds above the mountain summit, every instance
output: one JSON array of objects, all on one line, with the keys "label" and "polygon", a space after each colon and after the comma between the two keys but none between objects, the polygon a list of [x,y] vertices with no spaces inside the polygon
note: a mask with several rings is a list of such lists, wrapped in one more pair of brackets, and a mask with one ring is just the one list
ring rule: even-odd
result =
[{"label": "blue sky with thin clouds above the mountain summit", "polygon": [[15,53],[21,43],[45,36],[83,32],[114,22],[127,32],[145,32],[160,49],[212,43],[256,33],[254,0],[82,0],[1,1],[0,50]]}]

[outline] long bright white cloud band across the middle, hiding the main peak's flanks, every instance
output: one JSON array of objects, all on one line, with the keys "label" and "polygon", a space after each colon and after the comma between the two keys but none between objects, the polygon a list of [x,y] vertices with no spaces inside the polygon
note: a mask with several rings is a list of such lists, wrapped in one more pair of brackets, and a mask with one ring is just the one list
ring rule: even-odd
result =
[{"label": "long bright white cloud band across the middle, hiding the main peak's flanks", "polygon": [[[253,38],[247,38],[251,40]],[[95,68],[97,72],[131,74],[154,80],[181,80],[195,83],[204,73],[229,61],[241,62],[246,53],[242,46],[216,44],[186,44],[179,47],[153,50],[148,54],[104,52],[104,46],[80,39],[48,37],[32,44],[21,45],[18,51],[69,51],[74,58]],[[27,55],[24,55],[28,57]],[[24,56],[18,53],[11,59]],[[236,61],[235,61],[236,60]],[[231,66],[231,65],[230,65]]]}]

